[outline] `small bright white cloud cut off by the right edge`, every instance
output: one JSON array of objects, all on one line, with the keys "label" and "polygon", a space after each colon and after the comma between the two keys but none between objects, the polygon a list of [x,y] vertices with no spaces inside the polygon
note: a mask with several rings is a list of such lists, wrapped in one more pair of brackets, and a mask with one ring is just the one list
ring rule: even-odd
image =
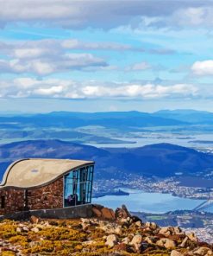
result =
[{"label": "small bright white cloud cut off by the right edge", "polygon": [[196,61],[191,70],[197,75],[213,75],[213,60]]}]

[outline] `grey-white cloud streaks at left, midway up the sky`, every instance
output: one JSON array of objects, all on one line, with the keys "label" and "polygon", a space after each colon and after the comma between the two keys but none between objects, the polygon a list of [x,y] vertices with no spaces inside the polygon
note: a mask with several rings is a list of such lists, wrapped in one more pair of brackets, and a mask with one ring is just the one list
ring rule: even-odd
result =
[{"label": "grey-white cloud streaks at left, midway up the sky", "polygon": [[[66,47],[65,47],[66,46]],[[117,67],[91,53],[71,53],[81,50],[139,50],[115,42],[80,42],[76,39],[0,42],[0,73],[36,74],[44,76],[70,70],[110,71]]]}]

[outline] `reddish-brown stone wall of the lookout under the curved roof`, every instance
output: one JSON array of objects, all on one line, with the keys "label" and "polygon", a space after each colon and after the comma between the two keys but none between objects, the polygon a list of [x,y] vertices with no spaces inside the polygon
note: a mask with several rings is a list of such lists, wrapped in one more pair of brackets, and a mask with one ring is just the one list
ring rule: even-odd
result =
[{"label": "reddish-brown stone wall of the lookout under the curved roof", "polygon": [[[2,205],[3,201],[4,207]],[[3,208],[2,208],[3,207]],[[63,178],[39,189],[0,189],[0,215],[23,210],[62,208]]]}]

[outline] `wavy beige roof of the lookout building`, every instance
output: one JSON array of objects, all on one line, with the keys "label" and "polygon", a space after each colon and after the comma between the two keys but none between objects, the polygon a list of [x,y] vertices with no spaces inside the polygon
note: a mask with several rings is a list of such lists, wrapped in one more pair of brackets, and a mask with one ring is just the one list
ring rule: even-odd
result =
[{"label": "wavy beige roof of the lookout building", "polygon": [[41,187],[53,182],[66,172],[89,164],[94,164],[94,162],[42,158],[18,160],[11,163],[4,173],[0,189],[5,187],[22,189]]}]

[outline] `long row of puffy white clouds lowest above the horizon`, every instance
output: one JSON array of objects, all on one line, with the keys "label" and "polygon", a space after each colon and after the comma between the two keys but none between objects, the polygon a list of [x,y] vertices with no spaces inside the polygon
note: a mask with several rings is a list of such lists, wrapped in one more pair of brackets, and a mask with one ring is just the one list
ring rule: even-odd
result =
[{"label": "long row of puffy white clouds lowest above the horizon", "polygon": [[197,87],[190,84],[154,85],[132,83],[77,82],[73,80],[18,78],[0,81],[2,97],[47,97],[64,99],[158,99],[196,97]]}]

